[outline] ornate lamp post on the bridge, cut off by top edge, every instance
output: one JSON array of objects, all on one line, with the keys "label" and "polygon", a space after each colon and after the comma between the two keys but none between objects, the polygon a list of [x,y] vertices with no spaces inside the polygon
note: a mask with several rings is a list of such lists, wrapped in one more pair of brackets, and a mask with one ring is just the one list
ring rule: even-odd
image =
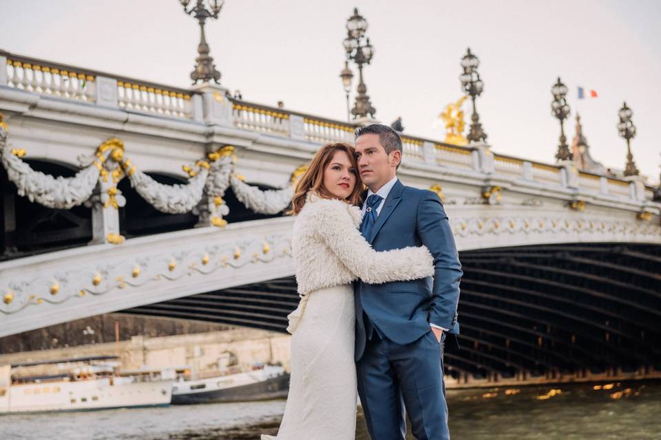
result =
[{"label": "ornate lamp post on the bridge, cut off by top edge", "polygon": [[209,44],[207,43],[207,38],[204,36],[204,21],[209,18],[218,19],[218,14],[224,4],[224,0],[208,0],[210,10],[204,5],[204,0],[197,0],[196,4],[191,6],[190,9],[188,9],[188,5],[191,3],[191,0],[179,0],[179,2],[184,7],[184,12],[195,17],[198,20],[198,23],[200,23],[200,45],[198,45],[199,55],[195,58],[195,70],[191,72],[191,80],[193,80],[193,84],[198,81],[204,83],[211,80],[220,83],[220,72],[218,72],[216,66],[213,65],[213,58],[209,56]]}]

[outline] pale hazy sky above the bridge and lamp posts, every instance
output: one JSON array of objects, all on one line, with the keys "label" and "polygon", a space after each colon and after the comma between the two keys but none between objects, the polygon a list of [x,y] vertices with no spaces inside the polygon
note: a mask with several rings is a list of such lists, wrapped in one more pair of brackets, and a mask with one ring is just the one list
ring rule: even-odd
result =
[{"label": "pale hazy sky above the bridge and lamp posts", "polygon": [[[624,168],[616,124],[626,100],[638,129],[634,159],[658,182],[661,1],[226,0],[207,25],[222,85],[246,100],[344,120],[338,75],[355,6],[375,47],[364,72],[377,119],[401,115],[405,133],[443,140],[434,118],[461,97],[459,61],[470,47],[494,151],[554,162],[550,88],[561,76],[568,143],[578,109],[593,157]],[[178,0],[0,0],[0,48],[50,61],[187,87],[198,41]],[[599,98],[579,101],[578,86]]]}]

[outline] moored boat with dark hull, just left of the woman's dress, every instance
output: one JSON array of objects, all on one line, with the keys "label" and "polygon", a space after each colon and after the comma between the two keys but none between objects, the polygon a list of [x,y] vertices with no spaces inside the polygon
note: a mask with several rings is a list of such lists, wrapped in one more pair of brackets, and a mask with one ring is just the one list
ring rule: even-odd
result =
[{"label": "moored boat with dark hull, just left of the woman's dress", "polygon": [[279,365],[235,366],[206,378],[186,376],[180,375],[172,387],[173,405],[282,399],[289,388],[289,375]]}]

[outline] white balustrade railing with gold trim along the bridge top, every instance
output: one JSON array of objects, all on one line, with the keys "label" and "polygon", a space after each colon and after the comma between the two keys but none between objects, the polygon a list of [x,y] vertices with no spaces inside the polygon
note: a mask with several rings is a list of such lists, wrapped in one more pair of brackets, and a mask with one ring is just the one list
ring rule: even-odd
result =
[{"label": "white balustrade railing with gold trim along the bridge top", "polygon": [[[54,63],[0,50],[0,87],[88,104],[118,107],[145,113],[202,122],[204,92],[151,83],[83,67]],[[357,124],[317,115],[269,107],[225,96],[231,103],[231,125],[238,129],[307,140],[314,143],[353,142]],[[508,155],[493,154],[487,146],[457,146],[412,135],[402,135],[403,153],[410,162],[425,162],[458,170],[493,173],[545,185],[573,186],[585,192],[631,199],[651,199],[653,188],[617,177],[580,172],[567,165],[544,164]],[[484,148],[486,147],[486,151]]]}]

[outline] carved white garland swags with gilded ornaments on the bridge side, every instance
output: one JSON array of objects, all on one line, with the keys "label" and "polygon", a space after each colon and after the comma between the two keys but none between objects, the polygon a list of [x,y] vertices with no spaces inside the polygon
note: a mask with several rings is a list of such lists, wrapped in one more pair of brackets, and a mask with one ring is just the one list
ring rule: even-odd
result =
[{"label": "carved white garland swags with gilded ornaments on the bridge side", "polygon": [[[222,227],[227,225],[223,217],[229,214],[229,208],[222,197],[230,185],[247,208],[261,214],[281,212],[289,205],[293,195],[291,186],[262,191],[233,175],[237,160],[233,146],[224,146],[209,153],[208,162],[196,162],[197,169],[183,166],[190,176],[187,184],[164,185],[137,170],[125,156],[123,142],[116,138],[103,142],[94,155],[79,157],[78,160],[85,168],[69,178],[53,177],[32,170],[21,159],[25,150],[10,148],[6,140],[7,128],[2,123],[0,159],[9,179],[17,186],[19,195],[48,208],[70,209],[85,203],[85,206],[97,210],[118,209],[126,201],[117,184],[126,176],[136,192],[157,210],[167,214],[192,211],[200,216],[200,224]],[[302,168],[299,168],[293,173],[293,184],[302,172]],[[106,220],[107,217],[112,216],[106,215]],[[106,228],[105,232],[101,234],[102,241],[123,241],[123,237],[118,235],[118,225]]]}]

